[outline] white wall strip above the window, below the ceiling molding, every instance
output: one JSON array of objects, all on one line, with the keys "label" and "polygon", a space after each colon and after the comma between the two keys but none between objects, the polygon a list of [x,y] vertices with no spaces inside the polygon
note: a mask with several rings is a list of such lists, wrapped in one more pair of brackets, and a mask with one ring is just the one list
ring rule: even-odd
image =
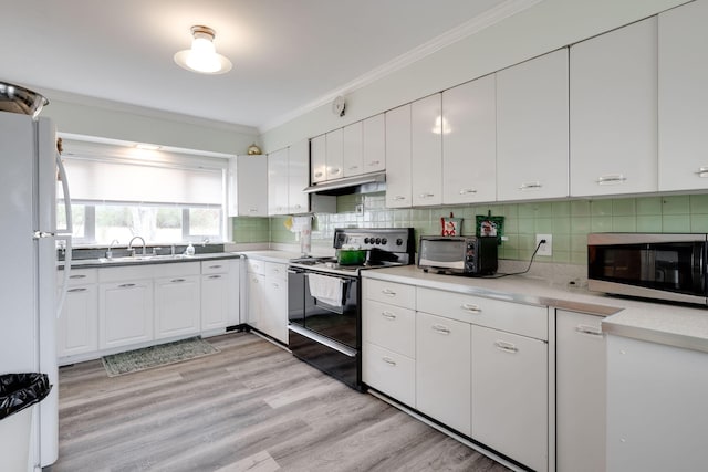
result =
[{"label": "white wall strip above the window, below the ceiling molding", "polygon": [[51,117],[60,133],[230,155],[246,154],[252,143],[259,144],[253,127],[52,91],[42,94],[50,99],[42,116]]}]

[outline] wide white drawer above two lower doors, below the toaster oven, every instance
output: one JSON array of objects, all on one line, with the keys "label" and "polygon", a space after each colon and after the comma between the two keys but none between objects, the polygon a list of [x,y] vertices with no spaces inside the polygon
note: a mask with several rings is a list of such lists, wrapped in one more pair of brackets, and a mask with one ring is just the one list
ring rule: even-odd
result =
[{"label": "wide white drawer above two lower doors, below the toaster oven", "polygon": [[418,311],[548,340],[548,307],[418,287]]}]

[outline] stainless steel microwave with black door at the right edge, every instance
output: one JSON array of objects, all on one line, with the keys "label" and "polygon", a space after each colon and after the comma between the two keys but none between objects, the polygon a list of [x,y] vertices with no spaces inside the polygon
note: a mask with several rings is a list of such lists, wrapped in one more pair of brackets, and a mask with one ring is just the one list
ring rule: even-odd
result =
[{"label": "stainless steel microwave with black door at the right edge", "polygon": [[708,234],[592,233],[587,287],[706,305]]}]

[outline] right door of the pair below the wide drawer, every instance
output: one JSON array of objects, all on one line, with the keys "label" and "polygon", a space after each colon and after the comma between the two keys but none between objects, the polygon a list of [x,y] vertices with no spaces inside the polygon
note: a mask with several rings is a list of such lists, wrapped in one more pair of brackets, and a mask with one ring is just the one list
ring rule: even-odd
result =
[{"label": "right door of the pair below the wide drawer", "polygon": [[472,438],[537,471],[549,463],[546,347],[472,326]]}]

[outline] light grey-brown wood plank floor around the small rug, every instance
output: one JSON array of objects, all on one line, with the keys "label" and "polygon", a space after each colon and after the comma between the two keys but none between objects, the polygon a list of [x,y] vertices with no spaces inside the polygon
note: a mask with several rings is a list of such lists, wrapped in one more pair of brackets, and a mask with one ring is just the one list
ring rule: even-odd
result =
[{"label": "light grey-brown wood plank floor around the small rug", "polygon": [[59,461],[82,471],[507,471],[253,334],[221,353],[108,378],[60,369]]}]

